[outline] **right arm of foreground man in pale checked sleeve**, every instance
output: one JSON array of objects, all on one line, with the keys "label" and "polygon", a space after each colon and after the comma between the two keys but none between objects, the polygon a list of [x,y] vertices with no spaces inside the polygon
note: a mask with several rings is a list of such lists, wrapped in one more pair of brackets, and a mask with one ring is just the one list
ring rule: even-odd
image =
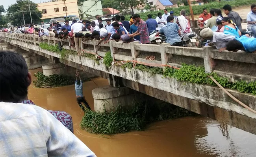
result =
[{"label": "right arm of foreground man in pale checked sleeve", "polygon": [[96,157],[78,137],[69,131],[50,112],[34,106],[38,121],[45,136],[48,156],[61,157]]}]

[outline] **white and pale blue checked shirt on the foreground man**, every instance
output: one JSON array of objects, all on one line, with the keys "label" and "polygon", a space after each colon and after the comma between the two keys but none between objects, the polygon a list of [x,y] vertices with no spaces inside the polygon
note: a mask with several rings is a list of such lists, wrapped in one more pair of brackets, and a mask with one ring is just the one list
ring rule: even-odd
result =
[{"label": "white and pale blue checked shirt on the foreground man", "polygon": [[45,109],[0,102],[0,157],[96,157]]}]

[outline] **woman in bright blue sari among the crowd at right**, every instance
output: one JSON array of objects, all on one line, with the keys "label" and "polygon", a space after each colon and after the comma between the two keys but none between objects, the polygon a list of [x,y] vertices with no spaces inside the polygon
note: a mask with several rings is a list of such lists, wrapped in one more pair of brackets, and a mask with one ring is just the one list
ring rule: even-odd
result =
[{"label": "woman in bright blue sari among the crowd at right", "polygon": [[236,24],[232,20],[230,20],[230,18],[224,17],[221,20],[221,23],[224,26],[224,32],[223,33],[228,34],[228,35],[233,35],[236,38],[241,37],[241,35],[242,35],[241,31],[239,31]]}]

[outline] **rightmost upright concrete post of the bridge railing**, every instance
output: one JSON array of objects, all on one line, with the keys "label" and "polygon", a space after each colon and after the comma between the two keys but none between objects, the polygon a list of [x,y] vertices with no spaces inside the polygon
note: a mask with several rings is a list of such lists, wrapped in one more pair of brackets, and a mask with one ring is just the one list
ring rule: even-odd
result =
[{"label": "rightmost upright concrete post of the bridge railing", "polygon": [[215,46],[203,47],[204,54],[204,70],[206,73],[211,73],[214,67],[214,60],[211,58],[211,50],[215,49]]}]

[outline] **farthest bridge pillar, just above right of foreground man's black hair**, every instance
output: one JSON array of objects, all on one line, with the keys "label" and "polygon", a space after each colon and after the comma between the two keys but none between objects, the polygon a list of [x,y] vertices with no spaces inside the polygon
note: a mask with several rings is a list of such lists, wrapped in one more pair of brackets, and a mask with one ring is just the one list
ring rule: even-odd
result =
[{"label": "farthest bridge pillar, just above right of foreground man's black hair", "polygon": [[25,58],[28,69],[36,69],[42,67],[44,64],[51,62],[49,58],[37,55],[36,53],[21,53]]}]

